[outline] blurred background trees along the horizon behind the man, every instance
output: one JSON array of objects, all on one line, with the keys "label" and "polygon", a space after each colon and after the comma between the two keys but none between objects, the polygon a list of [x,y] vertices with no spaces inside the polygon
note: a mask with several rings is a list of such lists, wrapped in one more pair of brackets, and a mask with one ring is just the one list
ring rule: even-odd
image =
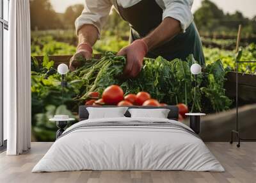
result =
[{"label": "blurred background trees along the horizon behind the man", "polygon": [[[65,13],[56,13],[49,0],[30,0],[31,30],[74,29],[74,22],[83,8],[83,4],[76,4],[69,6]],[[209,0],[202,1],[202,6],[194,13],[194,20],[200,31],[236,31],[238,25],[242,24],[246,33],[256,34],[256,16],[248,19],[238,11],[224,13]],[[113,11],[105,30],[113,34],[127,33],[129,25]]]}]

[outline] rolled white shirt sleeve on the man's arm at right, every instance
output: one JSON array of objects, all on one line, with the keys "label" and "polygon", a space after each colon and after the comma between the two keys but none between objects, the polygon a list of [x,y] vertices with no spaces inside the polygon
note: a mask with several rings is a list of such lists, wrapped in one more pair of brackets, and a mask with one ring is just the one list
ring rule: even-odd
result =
[{"label": "rolled white shirt sleeve on the man's arm at right", "polygon": [[163,19],[172,17],[179,20],[180,28],[183,32],[193,22],[193,14],[191,12],[193,0],[163,0],[165,9],[163,11]]}]

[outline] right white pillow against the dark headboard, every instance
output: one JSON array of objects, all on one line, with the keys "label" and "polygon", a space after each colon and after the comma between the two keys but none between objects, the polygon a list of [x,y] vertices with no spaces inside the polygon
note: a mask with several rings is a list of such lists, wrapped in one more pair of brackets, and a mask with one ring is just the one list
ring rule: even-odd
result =
[{"label": "right white pillow against the dark headboard", "polygon": [[170,109],[129,109],[131,118],[167,118]]}]

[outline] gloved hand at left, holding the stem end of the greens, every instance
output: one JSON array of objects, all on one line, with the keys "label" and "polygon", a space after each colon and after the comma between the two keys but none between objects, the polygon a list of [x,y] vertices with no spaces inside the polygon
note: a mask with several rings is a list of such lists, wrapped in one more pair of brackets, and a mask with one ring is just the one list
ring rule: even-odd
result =
[{"label": "gloved hand at left, holding the stem end of the greens", "polygon": [[92,58],[92,52],[91,45],[86,43],[79,44],[76,53],[70,59],[69,70],[74,71],[77,67],[81,67],[82,63],[79,61],[79,58],[90,59]]}]

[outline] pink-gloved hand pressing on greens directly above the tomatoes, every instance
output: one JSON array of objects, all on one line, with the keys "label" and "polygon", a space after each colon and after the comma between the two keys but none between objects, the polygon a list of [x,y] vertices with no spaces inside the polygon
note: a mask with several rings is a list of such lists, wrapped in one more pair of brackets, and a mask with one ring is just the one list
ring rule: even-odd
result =
[{"label": "pink-gloved hand pressing on greens directly above the tomatoes", "polygon": [[126,56],[124,68],[125,77],[136,77],[141,71],[143,58],[148,52],[148,46],[143,40],[135,40],[131,45],[118,52],[118,56]]}]

